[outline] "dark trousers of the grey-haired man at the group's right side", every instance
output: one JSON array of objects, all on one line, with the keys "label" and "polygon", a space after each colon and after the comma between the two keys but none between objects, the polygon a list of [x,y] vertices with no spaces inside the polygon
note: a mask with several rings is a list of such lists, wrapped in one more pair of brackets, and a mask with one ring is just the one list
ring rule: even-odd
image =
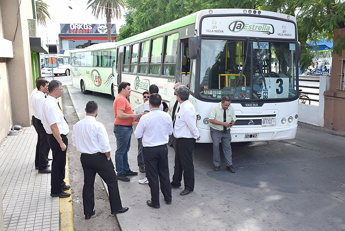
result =
[{"label": "dark trousers of the grey-haired man at the group's right side", "polygon": [[183,174],[184,189],[189,191],[194,190],[194,145],[194,138],[176,139],[175,171],[171,185],[180,187]]}]

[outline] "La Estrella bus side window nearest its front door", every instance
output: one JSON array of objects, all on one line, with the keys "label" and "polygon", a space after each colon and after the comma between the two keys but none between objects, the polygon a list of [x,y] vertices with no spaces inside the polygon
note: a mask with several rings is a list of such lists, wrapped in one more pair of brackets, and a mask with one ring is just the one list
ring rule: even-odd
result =
[{"label": "La Estrella bus side window nearest its front door", "polygon": [[163,65],[164,76],[175,76],[179,34],[169,35],[166,39],[166,52]]}]

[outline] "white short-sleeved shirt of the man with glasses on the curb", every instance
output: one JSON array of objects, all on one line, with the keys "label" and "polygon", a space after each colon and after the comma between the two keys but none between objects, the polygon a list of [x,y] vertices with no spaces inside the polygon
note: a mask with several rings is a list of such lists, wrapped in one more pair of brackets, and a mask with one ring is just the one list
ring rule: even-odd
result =
[{"label": "white short-sleeved shirt of the man with glasses on the curb", "polygon": [[70,132],[70,128],[63,116],[63,113],[57,105],[57,98],[53,96],[47,96],[42,105],[42,118],[41,118],[44,130],[48,134],[53,134],[51,125],[56,123],[59,128],[60,134],[67,135]]}]

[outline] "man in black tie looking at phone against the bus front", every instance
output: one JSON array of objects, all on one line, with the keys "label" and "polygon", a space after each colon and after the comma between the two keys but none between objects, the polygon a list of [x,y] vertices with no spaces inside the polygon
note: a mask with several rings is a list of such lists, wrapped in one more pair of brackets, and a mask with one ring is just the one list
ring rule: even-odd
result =
[{"label": "man in black tie looking at phone against the bus front", "polygon": [[220,152],[219,142],[221,140],[226,169],[230,173],[235,173],[232,161],[231,151],[231,134],[230,128],[235,124],[236,116],[232,106],[230,106],[231,99],[229,96],[224,96],[221,102],[214,105],[211,109],[210,120],[210,132],[213,141],[213,163],[215,165],[214,170],[219,171],[220,168]]}]

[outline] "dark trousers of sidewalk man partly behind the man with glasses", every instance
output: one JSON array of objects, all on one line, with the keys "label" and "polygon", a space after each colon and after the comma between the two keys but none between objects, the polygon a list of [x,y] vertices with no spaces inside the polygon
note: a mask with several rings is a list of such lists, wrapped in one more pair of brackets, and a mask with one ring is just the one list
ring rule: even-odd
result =
[{"label": "dark trousers of sidewalk man partly behind the man with glasses", "polygon": [[37,144],[36,144],[36,156],[35,156],[35,167],[38,170],[44,170],[48,165],[48,154],[49,154],[49,143],[47,140],[47,133],[44,130],[41,120],[32,116],[32,123],[37,133]]}]

